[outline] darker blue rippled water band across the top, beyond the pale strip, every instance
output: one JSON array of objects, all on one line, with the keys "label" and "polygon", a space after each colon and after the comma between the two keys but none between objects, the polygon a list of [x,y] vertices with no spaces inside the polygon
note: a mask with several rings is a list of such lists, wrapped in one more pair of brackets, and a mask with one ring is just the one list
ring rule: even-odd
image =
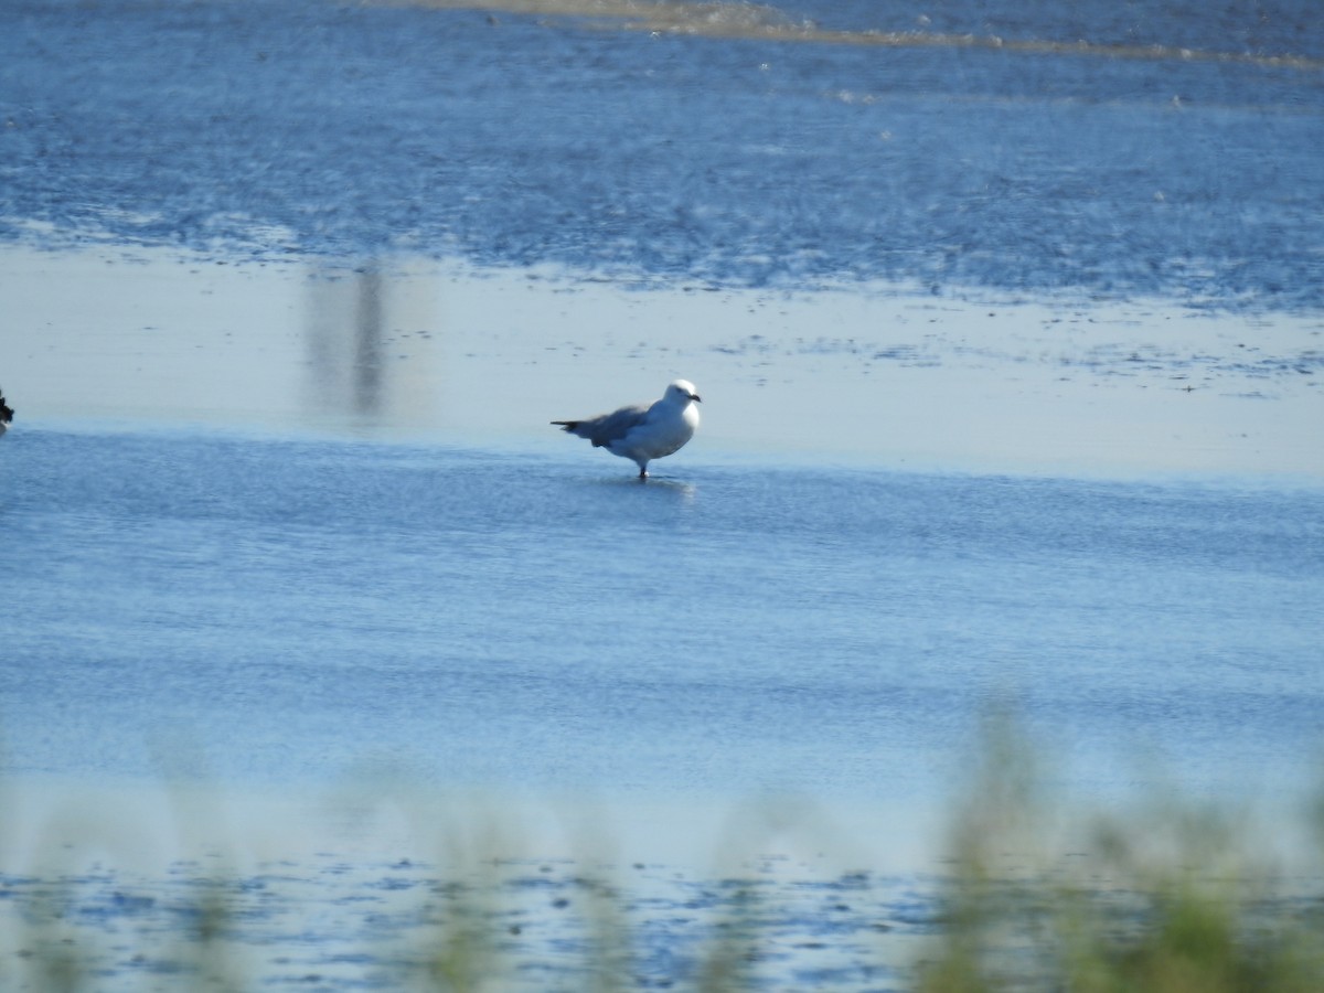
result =
[{"label": "darker blue rippled water band across the top, beyond the pale strip", "polygon": [[1315,0],[726,11],[855,44],[322,0],[12,0],[0,237],[1324,303]]}]

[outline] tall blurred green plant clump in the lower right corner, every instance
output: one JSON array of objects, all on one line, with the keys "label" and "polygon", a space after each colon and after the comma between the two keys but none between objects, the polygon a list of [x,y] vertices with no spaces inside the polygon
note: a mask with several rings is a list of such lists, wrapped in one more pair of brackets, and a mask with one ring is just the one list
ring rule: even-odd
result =
[{"label": "tall blurred green plant clump in the lower right corner", "polygon": [[1324,990],[1324,806],[1292,825],[1313,830],[1315,857],[1283,876],[1245,812],[1149,797],[1072,813],[1038,771],[994,723],[955,817],[945,922],[918,990]]}]

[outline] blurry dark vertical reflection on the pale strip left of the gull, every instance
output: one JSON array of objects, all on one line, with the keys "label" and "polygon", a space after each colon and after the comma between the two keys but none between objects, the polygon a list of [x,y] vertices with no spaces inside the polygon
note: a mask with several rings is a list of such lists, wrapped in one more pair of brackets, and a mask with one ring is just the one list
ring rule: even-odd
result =
[{"label": "blurry dark vertical reflection on the pale strip left of the gull", "polygon": [[420,428],[436,409],[433,287],[368,263],[307,279],[307,413],[351,425]]}]

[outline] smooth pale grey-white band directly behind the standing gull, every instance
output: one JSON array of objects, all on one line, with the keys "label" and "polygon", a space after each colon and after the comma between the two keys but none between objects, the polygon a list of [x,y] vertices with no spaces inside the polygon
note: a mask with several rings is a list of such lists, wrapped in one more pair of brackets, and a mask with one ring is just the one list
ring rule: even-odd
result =
[{"label": "smooth pale grey-white band directly behind the standing gull", "polygon": [[1324,475],[1324,318],[1148,302],[804,295],[438,263],[0,250],[25,424],[432,440],[588,458],[547,422],[704,395],[683,461]]}]

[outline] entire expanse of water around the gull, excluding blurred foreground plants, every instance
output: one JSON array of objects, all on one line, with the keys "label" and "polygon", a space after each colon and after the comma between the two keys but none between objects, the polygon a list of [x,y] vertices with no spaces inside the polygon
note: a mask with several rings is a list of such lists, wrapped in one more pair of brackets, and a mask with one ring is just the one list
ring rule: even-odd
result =
[{"label": "entire expanse of water around the gull, excluding blurred foreground plants", "polygon": [[[536,988],[596,865],[639,985],[735,874],[767,988],[896,988],[992,703],[1088,802],[1313,784],[1313,5],[591,7],[0,9],[11,944],[168,982],[224,866],[389,988],[493,804]],[[673,376],[647,485],[545,424]]]}]

